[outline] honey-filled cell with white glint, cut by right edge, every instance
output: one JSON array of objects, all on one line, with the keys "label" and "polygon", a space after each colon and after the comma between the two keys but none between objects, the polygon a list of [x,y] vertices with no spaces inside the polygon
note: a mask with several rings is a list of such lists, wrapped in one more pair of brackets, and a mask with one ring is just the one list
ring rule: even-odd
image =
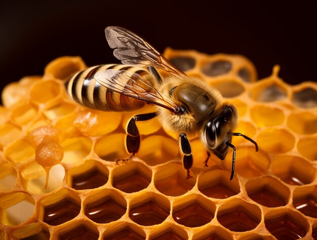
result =
[{"label": "honey-filled cell with white glint, cut by right edge", "polygon": [[297,187],[293,194],[293,205],[304,215],[317,218],[317,186]]}]

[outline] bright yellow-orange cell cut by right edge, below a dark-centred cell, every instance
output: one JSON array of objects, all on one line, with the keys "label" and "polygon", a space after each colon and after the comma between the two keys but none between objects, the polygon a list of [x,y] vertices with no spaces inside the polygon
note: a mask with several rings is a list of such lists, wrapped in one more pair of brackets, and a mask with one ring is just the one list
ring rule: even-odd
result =
[{"label": "bright yellow-orange cell cut by right edge, below a dark-centred cell", "polygon": [[287,125],[299,134],[313,134],[317,132],[317,115],[310,112],[292,113]]}]

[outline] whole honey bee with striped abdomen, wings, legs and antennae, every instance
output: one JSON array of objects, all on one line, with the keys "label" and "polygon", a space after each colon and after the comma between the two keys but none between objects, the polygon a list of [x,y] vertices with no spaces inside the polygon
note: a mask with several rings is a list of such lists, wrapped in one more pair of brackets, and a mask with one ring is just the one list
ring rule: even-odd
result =
[{"label": "whole honey bee with striped abdomen, wings, legs and antennae", "polygon": [[[117,161],[129,161],[138,152],[140,134],[137,121],[157,117],[163,128],[174,134],[179,142],[182,164],[187,178],[193,157],[189,139],[199,137],[207,151],[204,162],[208,166],[210,153],[224,160],[229,148],[233,150],[230,180],[234,174],[236,149],[232,136],[250,137],[233,132],[238,123],[236,108],[222,102],[220,92],[199,77],[187,76],[173,66],[140,36],[122,27],[105,29],[113,55],[123,65],[100,65],[75,74],[65,84],[76,102],[103,111],[133,111],[145,103],[155,112],[135,115],[127,125],[126,148],[129,156]],[[155,68],[171,74],[162,79]]]}]

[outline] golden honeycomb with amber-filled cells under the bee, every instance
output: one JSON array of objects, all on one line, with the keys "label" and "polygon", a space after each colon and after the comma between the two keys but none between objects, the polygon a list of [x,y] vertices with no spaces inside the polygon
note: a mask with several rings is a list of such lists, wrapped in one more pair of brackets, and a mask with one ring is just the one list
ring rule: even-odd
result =
[{"label": "golden honeycomb with amber-filled cells under the bee", "polygon": [[[43,76],[9,84],[0,107],[1,239],[317,239],[317,84],[290,86],[274,66],[257,81],[237,55],[167,49],[188,75],[222,93],[239,111],[225,161],[191,140],[193,178],[178,145],[156,119],[138,122],[141,149],[127,156],[125,126],[136,113],[90,110],[64,82],[87,66],[61,57]],[[165,73],[162,72],[162,75]]]}]

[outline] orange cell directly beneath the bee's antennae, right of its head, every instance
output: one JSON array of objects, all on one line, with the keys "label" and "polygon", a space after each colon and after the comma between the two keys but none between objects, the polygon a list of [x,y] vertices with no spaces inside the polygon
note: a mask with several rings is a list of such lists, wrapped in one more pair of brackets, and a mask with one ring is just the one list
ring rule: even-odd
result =
[{"label": "orange cell directly beneath the bee's antennae, right of its head", "polygon": [[[231,161],[232,155],[229,153],[226,157],[228,166],[231,166]],[[254,146],[241,146],[236,149],[235,172],[244,177],[261,176],[268,170],[269,163],[267,154],[262,151],[255,152]],[[229,175],[228,172],[227,176]]]}]

